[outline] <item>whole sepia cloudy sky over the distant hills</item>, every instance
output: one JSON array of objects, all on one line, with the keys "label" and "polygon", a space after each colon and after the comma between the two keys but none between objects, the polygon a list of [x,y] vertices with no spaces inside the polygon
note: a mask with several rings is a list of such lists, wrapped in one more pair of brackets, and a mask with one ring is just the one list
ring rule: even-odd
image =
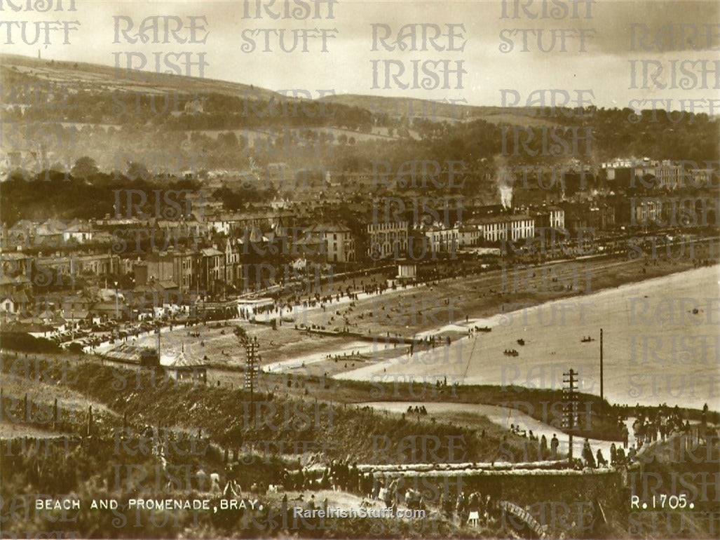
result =
[{"label": "whole sepia cloudy sky over the distant hills", "polygon": [[[37,56],[40,48],[42,58],[111,66],[118,60],[125,66],[132,53],[135,62],[145,58],[150,69],[155,69],[158,56],[161,71],[179,66],[192,76],[273,90],[302,89],[312,96],[334,91],[498,106],[526,104],[531,92],[541,89],[557,89],[561,97],[567,92],[571,99],[582,90],[585,104],[598,107],[635,108],[635,100],[665,99],[671,100],[670,109],[680,109],[690,99],[714,99],[714,109],[698,101],[696,110],[720,113],[715,74],[720,68],[720,20],[715,0],[59,3],[63,11],[57,10],[58,0],[40,2],[52,6],[41,13],[25,9],[27,4],[37,5],[35,1],[0,0],[3,50]],[[75,9],[69,11],[72,6]],[[160,17],[146,19],[156,16]],[[138,36],[143,20],[145,42]],[[67,40],[60,28],[50,30],[49,45],[38,45],[35,23],[48,21],[77,23],[70,25]],[[153,21],[159,25],[157,35]],[[23,22],[29,43],[20,33]],[[176,24],[180,30],[168,32],[165,40],[166,26],[174,30]],[[281,48],[281,32],[289,52]],[[302,32],[308,36],[305,50]],[[292,50],[295,36],[299,40]],[[643,36],[644,41],[639,39]],[[195,63],[176,62],[186,55]],[[459,75],[458,69],[463,73]]]}]

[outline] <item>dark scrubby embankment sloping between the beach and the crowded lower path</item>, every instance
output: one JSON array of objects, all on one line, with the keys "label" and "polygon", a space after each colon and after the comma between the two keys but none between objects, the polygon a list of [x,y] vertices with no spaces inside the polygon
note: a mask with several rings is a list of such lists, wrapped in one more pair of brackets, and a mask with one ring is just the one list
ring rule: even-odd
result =
[{"label": "dark scrubby embankment sloping between the beach and the crowded lower path", "polygon": [[[325,451],[329,458],[349,456],[358,462],[394,462],[410,459],[409,450],[400,451],[403,438],[407,443],[415,441],[417,436],[430,435],[441,441],[438,457],[449,454],[449,437],[463,437],[462,449],[456,450],[453,456],[456,461],[490,461],[506,434],[490,420],[482,425],[485,429],[485,438],[482,438],[480,427],[471,430],[446,423],[420,426],[409,419],[339,405],[337,401],[335,405],[322,400],[316,402],[311,397],[303,401],[303,397],[268,397],[256,393],[256,401],[264,404],[259,405],[259,409],[257,403],[251,408],[249,392],[243,390],[168,383],[160,378],[153,380],[148,373],[103,366],[95,361],[73,362],[64,368],[58,360],[41,361],[40,365],[55,379],[60,379],[62,370],[66,369],[69,375],[62,384],[72,391],[71,395],[82,395],[87,403],[107,407],[117,418],[116,424],[122,423],[122,417],[127,415],[130,423],[140,426],[145,423],[176,426],[193,433],[202,428],[202,433],[212,441],[233,449],[261,441],[282,441],[287,445],[313,441],[316,445],[311,448],[320,449],[323,443],[328,445]],[[17,369],[13,361],[4,361],[4,372],[17,372]],[[14,384],[11,390],[15,397],[20,398],[28,391],[32,394],[32,388],[37,385],[27,380],[25,384],[27,390]],[[6,393],[6,397],[10,396]],[[50,396],[48,394],[48,400]],[[81,418],[84,420],[85,416]],[[378,441],[374,442],[373,436],[377,436]],[[392,444],[386,448],[388,439]],[[518,457],[522,455],[523,441],[510,437],[508,443]],[[415,461],[420,462],[433,459],[431,454],[422,452],[415,457]]]}]

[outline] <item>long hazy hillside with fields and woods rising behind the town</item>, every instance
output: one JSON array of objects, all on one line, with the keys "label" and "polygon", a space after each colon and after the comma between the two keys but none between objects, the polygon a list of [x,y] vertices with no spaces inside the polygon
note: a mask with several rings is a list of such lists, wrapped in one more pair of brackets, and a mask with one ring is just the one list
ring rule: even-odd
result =
[{"label": "long hazy hillside with fields and woods rising behind the town", "polygon": [[[676,122],[662,111],[640,117],[631,109],[588,107],[582,117],[569,110],[552,116],[540,108],[508,112],[349,94],[300,99],[226,81],[115,75],[109,66],[0,56],[4,177],[19,169],[30,171],[15,175],[24,179],[48,169],[67,174],[86,157],[114,179],[138,169],[148,171],[148,181],[220,171],[232,189],[240,174],[271,163],[282,164],[291,180],[314,170],[336,171],[344,181],[371,174],[378,160],[390,171],[420,160],[446,170],[445,162],[455,161],[466,174],[462,193],[494,202],[500,164],[518,166],[513,176],[526,181],[523,166],[597,167],[631,156],[703,166],[719,158],[719,120],[707,114]],[[289,197],[276,184],[243,197],[243,204]],[[320,184],[300,198],[330,199]],[[428,189],[447,194],[441,186]],[[384,193],[354,184],[331,195],[358,203]],[[297,190],[292,197],[298,199]]]}]

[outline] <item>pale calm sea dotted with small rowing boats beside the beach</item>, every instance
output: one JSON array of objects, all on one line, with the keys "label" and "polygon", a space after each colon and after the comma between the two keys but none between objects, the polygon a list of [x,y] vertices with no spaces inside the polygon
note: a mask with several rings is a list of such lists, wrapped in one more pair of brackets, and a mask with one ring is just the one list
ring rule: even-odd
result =
[{"label": "pale calm sea dotted with small rowing boats beside the beach", "polygon": [[[614,403],[702,408],[720,396],[720,266],[703,267],[583,297],[469,320],[490,326],[450,346],[405,354],[337,374],[393,382],[515,384],[562,387],[580,372],[580,390],[600,395],[603,328],[604,395]],[[583,343],[590,336],[594,341]],[[518,343],[524,340],[524,345]],[[515,349],[518,356],[505,356]]]}]

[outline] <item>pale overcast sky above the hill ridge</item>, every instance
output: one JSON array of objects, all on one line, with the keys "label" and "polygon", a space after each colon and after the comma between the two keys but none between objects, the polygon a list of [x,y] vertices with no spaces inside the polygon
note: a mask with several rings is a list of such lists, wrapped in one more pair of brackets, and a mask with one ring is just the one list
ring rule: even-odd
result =
[{"label": "pale overcast sky above the hill ridge", "polygon": [[[523,3],[528,0],[523,0]],[[23,5],[25,0],[14,0],[10,4]],[[304,20],[273,19],[266,12],[261,18],[255,18],[256,4],[264,6],[270,0],[235,0],[235,1],[76,1],[76,11],[68,12],[69,0],[63,0],[66,11],[13,12],[7,1],[2,2],[4,11],[0,12],[0,20],[4,26],[0,29],[0,42],[7,53],[37,55],[37,44],[25,45],[22,37],[13,28],[12,40],[7,42],[7,21],[31,22],[46,20],[77,20],[80,22],[76,31],[71,31],[70,44],[63,44],[61,32],[50,35],[51,45],[42,46],[43,58],[57,60],[81,60],[94,63],[113,65],[113,53],[121,53],[123,62],[127,52],[143,53],[153,61],[153,53],[192,53],[197,59],[198,53],[205,53],[208,66],[204,68],[204,76],[246,84],[255,84],[269,89],[332,89],[338,94],[373,94],[380,96],[413,96],[426,99],[465,99],[469,104],[499,105],[500,89],[514,89],[521,94],[524,102],[528,92],[533,89],[592,89],[595,93],[593,104],[598,107],[627,107],[633,99],[663,98],[673,99],[672,109],[679,109],[680,99],[718,99],[718,84],[714,73],[708,74],[706,88],[701,86],[701,78],[694,82],[685,81],[688,89],[639,89],[631,88],[631,62],[636,63],[636,86],[642,83],[642,60],[660,60],[665,71],[658,76],[659,81],[672,84],[670,60],[707,60],[714,62],[719,56],[716,50],[707,50],[708,46],[717,48],[720,44],[719,3],[715,0],[706,1],[616,1],[598,0],[588,8],[588,2],[581,0],[577,4],[580,18],[573,18],[574,1],[548,0],[546,17],[543,17],[543,4],[535,0],[528,7],[528,12],[537,15],[531,19],[521,11],[518,18],[502,18],[503,2],[497,0],[340,0],[332,8],[333,18],[327,18],[327,2],[319,2],[317,9],[323,18]],[[275,0],[269,7],[271,12],[283,12],[282,0]],[[57,0],[55,0],[57,4]],[[289,1],[289,9],[298,9],[301,13],[304,1]],[[315,12],[314,1],[308,1],[311,14]],[[509,16],[513,15],[514,1],[508,0],[505,6]],[[555,4],[560,4],[559,6]],[[567,17],[553,19],[550,14],[557,8],[558,14]],[[250,18],[243,17],[245,9],[249,10]],[[590,9],[591,18],[585,18]],[[182,17],[184,24],[189,24],[188,17],[206,17],[207,24],[199,22],[205,30],[198,30],[196,37],[207,34],[204,43],[169,43],[153,42],[152,34],[149,42],[129,43],[120,34],[120,42],[115,41],[114,16],[132,18],[135,35],[144,17],[153,15],[172,15]],[[463,24],[464,30],[455,27],[454,44],[459,48],[464,42],[464,50],[434,50],[431,43],[424,42],[428,50],[393,50],[388,51],[379,45],[380,50],[373,48],[373,24],[387,24],[392,32],[387,42],[397,40],[397,32],[403,24],[438,24],[441,32],[446,34],[446,24]],[[651,35],[655,35],[662,25],[692,24],[688,27],[686,50],[665,52],[632,50],[631,24],[646,24]],[[125,29],[127,19],[120,21]],[[174,24],[174,23],[173,23]],[[708,24],[715,25],[708,27]],[[287,32],[304,29],[325,30],[328,36],[328,52],[322,52],[323,42],[319,37],[308,41],[309,52],[302,52],[302,45],[292,53],[280,50],[279,37],[270,35],[271,52],[265,52],[265,38],[251,34],[260,29],[284,29]],[[521,32],[510,34],[515,29],[541,29],[543,42],[549,47],[550,35],[556,32],[557,41],[554,50],[549,53],[539,51],[538,37],[528,34],[528,51],[523,51]],[[161,39],[162,41],[162,30]],[[334,32],[337,30],[337,32]],[[384,32],[381,27],[380,32]],[[560,34],[567,36],[566,51],[560,49]],[[585,32],[585,52],[580,50],[580,32]],[[698,32],[693,37],[692,32]],[[28,38],[32,40],[34,28],[29,29]],[[433,35],[433,28],[427,28],[428,35]],[[319,32],[318,32],[319,33]],[[708,43],[708,33],[711,36]],[[189,38],[189,30],[179,32]],[[675,32],[675,36],[677,36]],[[287,35],[292,44],[292,35]],[[255,40],[256,49],[243,51],[248,47],[248,40]],[[508,46],[512,40],[513,50],[503,53],[501,47]],[[688,41],[692,41],[692,43]],[[405,40],[410,44],[409,38]],[[448,47],[447,37],[436,40],[438,45]],[[649,40],[652,43],[652,38]],[[421,32],[418,32],[417,48],[423,45]],[[675,48],[680,48],[680,40],[675,40]],[[690,50],[691,46],[706,50]],[[286,45],[287,46],[287,45]],[[378,68],[377,81],[380,88],[374,88],[373,60]],[[462,61],[464,73],[462,84],[456,74],[450,73],[451,88],[431,87],[429,89],[402,89],[391,79],[391,88],[385,86],[385,61],[400,61],[405,73],[400,77],[401,83],[413,85],[413,60],[423,62],[450,60],[449,66],[455,68],[457,61]],[[434,66],[434,64],[433,64]],[[698,73],[696,63],[694,73]],[[714,69],[714,64],[711,64]],[[164,69],[165,67],[163,67]],[[397,69],[393,64],[392,69]],[[652,68],[649,73],[654,73]],[[192,75],[198,75],[198,68],[192,69]],[[425,73],[420,73],[422,81]],[[678,75],[678,81],[683,73]],[[699,73],[698,73],[699,77]],[[442,75],[441,75],[442,81]],[[431,86],[435,86],[431,84]],[[456,86],[461,86],[457,88]],[[716,111],[720,112],[720,111]]]}]

